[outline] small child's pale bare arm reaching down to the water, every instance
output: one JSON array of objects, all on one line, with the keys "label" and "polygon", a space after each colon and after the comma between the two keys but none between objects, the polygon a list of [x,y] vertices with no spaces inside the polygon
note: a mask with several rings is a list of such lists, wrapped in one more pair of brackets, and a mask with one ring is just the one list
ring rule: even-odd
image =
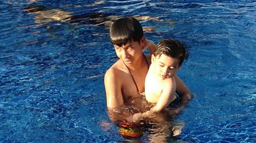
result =
[{"label": "small child's pale bare arm reaching down to the water", "polygon": [[172,82],[169,84],[164,84],[162,94],[156,106],[154,107],[154,110],[162,111],[170,104],[170,102],[174,101],[176,99],[175,91],[176,91],[175,80],[172,80]]}]

